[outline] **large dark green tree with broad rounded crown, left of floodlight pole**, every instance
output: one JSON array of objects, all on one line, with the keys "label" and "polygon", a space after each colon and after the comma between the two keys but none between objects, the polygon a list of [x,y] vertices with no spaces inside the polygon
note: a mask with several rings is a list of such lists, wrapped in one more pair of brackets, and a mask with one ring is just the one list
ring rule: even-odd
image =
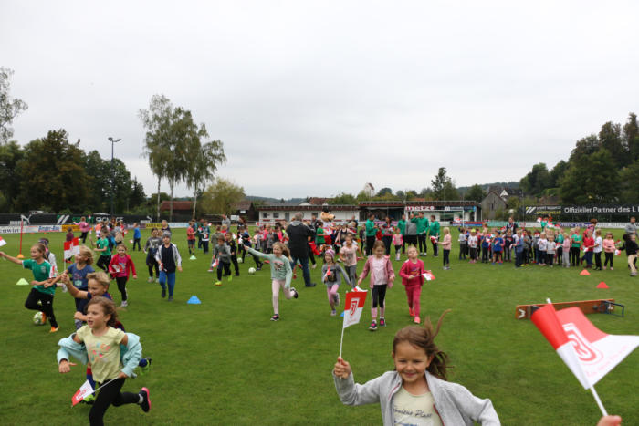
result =
[{"label": "large dark green tree with broad rounded crown, left of floodlight pole", "polygon": [[19,206],[54,212],[83,208],[87,191],[82,185],[89,179],[83,157],[82,150],[68,143],[65,130],[50,130],[46,138],[29,142],[16,167],[21,176]]}]

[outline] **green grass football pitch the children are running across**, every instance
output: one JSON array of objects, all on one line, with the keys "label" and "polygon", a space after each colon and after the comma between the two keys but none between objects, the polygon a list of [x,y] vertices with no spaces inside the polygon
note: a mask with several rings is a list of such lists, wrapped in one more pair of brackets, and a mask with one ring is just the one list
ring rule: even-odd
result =
[{"label": "green grass football pitch the children are running across", "polygon": [[[143,231],[146,240],[148,231]],[[617,234],[621,234],[617,231]],[[615,235],[618,236],[618,235]],[[3,235],[2,249],[17,255],[19,235]],[[23,253],[39,235],[26,234]],[[47,234],[62,267],[64,234]],[[188,260],[184,230],[173,241],[183,255],[183,273],[177,274],[175,301],[160,296],[160,286],[149,284],[144,255],[130,252],[138,268],[129,281],[129,307],[120,310],[127,328],[141,336],[144,355],[153,359],[148,375],[127,379],[124,390],[151,390],[152,411],[137,406],[110,408],[110,424],[380,424],[379,405],[346,407],[335,392],[330,371],[340,348],[341,318],[330,317],[325,286],[305,288],[301,274],[294,280],[299,299],[280,297],[281,320],[272,315],[268,268],[247,275],[253,260],[241,264],[241,276],[223,286],[213,285],[207,272],[210,257]],[[456,236],[454,236],[456,241]],[[601,414],[589,391],[583,390],[550,344],[528,320],[514,319],[515,306],[613,297],[626,307],[625,317],[589,316],[610,334],[639,334],[639,281],[631,278],[625,256],[615,257],[614,271],[512,264],[468,265],[451,254],[452,270],[443,271],[441,256],[425,259],[436,280],[422,293],[423,314],[437,317],[451,308],[437,342],[452,360],[449,379],[475,395],[490,398],[504,424],[594,425]],[[400,263],[394,263],[395,271]],[[359,271],[361,272],[361,265]],[[320,281],[319,268],[312,271]],[[0,260],[0,423],[86,424],[89,406],[71,408],[70,398],[85,380],[84,367],[58,373],[58,339],[73,330],[73,300],[59,289],[55,311],[57,334],[34,326],[34,311],[26,310],[30,271]],[[605,281],[610,289],[595,286]],[[345,292],[344,286],[340,293]],[[110,291],[120,304],[114,282]],[[190,296],[202,305],[187,305]],[[361,323],[346,329],[343,356],[351,362],[357,381],[363,382],[393,369],[393,335],[411,325],[406,297],[398,278],[387,295],[388,327],[370,332],[370,300]],[[596,386],[610,413],[624,424],[639,423],[639,351],[626,358]]]}]

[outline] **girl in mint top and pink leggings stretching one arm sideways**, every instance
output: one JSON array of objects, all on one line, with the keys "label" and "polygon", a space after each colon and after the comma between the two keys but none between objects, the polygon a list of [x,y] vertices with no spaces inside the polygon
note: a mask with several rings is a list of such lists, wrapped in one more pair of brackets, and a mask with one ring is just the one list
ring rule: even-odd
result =
[{"label": "girl in mint top and pink leggings stretching one arm sideways", "polygon": [[245,249],[250,255],[261,257],[269,261],[271,267],[271,289],[273,290],[273,317],[271,317],[271,321],[279,321],[279,290],[284,291],[284,296],[287,299],[291,297],[298,298],[297,290],[295,287],[290,286],[293,270],[290,267],[290,252],[288,251],[288,247],[279,242],[274,243],[272,255],[260,253],[246,244]]}]

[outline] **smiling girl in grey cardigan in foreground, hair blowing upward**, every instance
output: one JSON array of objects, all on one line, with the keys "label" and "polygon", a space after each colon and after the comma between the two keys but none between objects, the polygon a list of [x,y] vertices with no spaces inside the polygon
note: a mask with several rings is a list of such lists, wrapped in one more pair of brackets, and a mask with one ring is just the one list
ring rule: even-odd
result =
[{"label": "smiling girl in grey cardigan in foreground, hair blowing upward", "polygon": [[[447,311],[446,311],[447,312]],[[403,327],[393,339],[393,371],[363,385],[355,384],[351,365],[341,357],[333,369],[335,388],[345,405],[380,403],[384,425],[498,425],[490,400],[481,400],[462,385],[446,381],[448,357],[435,345],[437,327]]]}]

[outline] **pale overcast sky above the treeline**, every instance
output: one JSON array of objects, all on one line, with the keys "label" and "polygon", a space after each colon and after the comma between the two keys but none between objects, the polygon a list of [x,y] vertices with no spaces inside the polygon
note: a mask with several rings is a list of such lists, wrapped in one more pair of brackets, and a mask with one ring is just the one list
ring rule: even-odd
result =
[{"label": "pale overcast sky above the treeline", "polygon": [[[639,112],[639,3],[3,0],[21,144],[64,128],[155,192],[139,109],[193,112],[250,195],[519,181]],[[168,184],[162,182],[162,191]],[[187,195],[184,185],[176,195]]]}]

